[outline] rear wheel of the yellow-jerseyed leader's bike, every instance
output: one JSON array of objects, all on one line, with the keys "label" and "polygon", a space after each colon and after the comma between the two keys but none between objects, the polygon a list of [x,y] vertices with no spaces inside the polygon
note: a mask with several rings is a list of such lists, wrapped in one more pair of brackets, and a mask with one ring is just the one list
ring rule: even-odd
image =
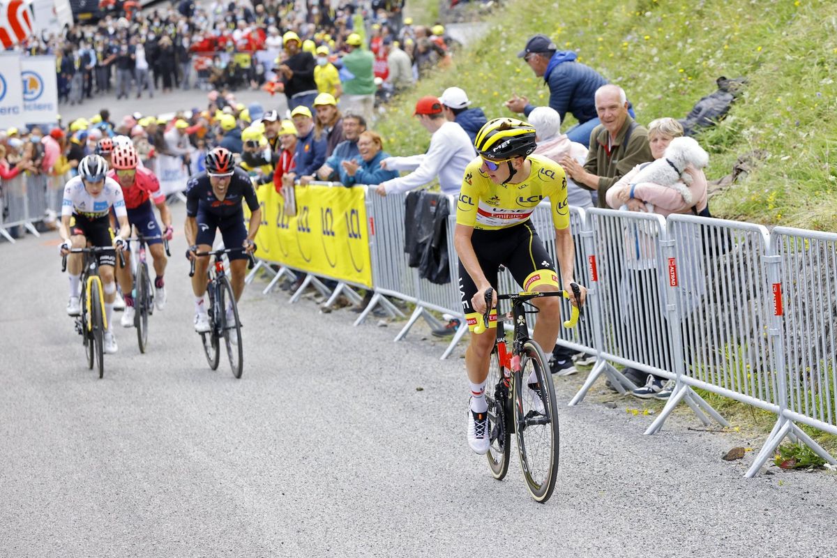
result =
[{"label": "rear wheel of the yellow-jerseyed leader's bike", "polygon": [[497,480],[506,477],[511,458],[511,392],[503,375],[498,345],[491,351],[488,379],[485,381],[485,401],[488,403],[488,431],[491,444],[486,457],[491,476]]}]

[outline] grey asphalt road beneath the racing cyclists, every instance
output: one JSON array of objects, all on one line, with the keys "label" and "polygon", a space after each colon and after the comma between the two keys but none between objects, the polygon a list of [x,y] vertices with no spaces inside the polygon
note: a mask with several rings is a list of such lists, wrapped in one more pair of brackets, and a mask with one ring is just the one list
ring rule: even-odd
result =
[{"label": "grey asphalt road beneath the racing cyclists", "polygon": [[[721,453],[759,439],[689,430],[685,414],[644,437],[651,417],[629,398],[562,408],[559,484],[534,503],[516,462],[497,482],[470,452],[462,351],[439,361],[421,326],[393,343],[395,324],[355,328],[257,280],[244,376],[210,371],[182,234],[148,353],[120,328],[100,380],[64,315],[56,244],[0,243],[2,556],[837,552],[834,474],[743,479],[752,453]],[[559,402],[581,379],[557,379]]]}]

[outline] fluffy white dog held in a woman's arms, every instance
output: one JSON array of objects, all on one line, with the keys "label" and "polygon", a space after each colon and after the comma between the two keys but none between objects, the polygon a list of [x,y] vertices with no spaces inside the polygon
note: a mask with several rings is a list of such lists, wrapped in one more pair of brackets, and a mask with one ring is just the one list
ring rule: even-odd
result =
[{"label": "fluffy white dog held in a woman's arms", "polygon": [[651,182],[673,188],[680,193],[684,202],[691,204],[693,200],[688,188],[691,175],[684,172],[689,164],[700,170],[709,164],[709,155],[691,137],[675,137],[665,148],[663,156],[644,166],[631,183]]}]

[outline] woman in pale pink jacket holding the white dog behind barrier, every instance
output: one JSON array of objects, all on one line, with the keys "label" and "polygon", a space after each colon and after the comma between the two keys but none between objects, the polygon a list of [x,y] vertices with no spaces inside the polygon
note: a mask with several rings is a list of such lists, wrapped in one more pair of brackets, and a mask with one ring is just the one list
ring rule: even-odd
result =
[{"label": "woman in pale pink jacket holding the white dog behind barrier", "polygon": [[[648,125],[648,141],[650,144],[651,155],[654,156],[655,161],[662,160],[666,155],[665,150],[670,145],[671,141],[676,137],[681,136],[683,136],[683,126],[681,126],[680,122],[677,120],[674,120],[673,118],[659,118],[652,121],[650,125]],[[704,165],[706,164],[708,157],[706,156],[706,152],[703,151],[700,146],[697,146],[695,143],[694,146],[690,145],[687,147],[692,151],[699,150],[700,152],[694,153],[694,159],[700,160],[704,163]],[[643,163],[635,166],[631,171],[625,174],[619,182],[616,182],[613,187],[608,189],[606,193],[608,206],[614,209],[621,208],[628,211],[658,213],[663,217],[667,217],[671,213],[698,214],[703,211],[703,209],[706,208],[706,175],[703,173],[703,170],[701,168],[696,168],[696,166],[691,163],[683,164],[680,157],[675,157],[672,154],[665,158],[667,159],[666,166],[670,166],[675,169],[675,171],[680,173],[681,178],[679,183],[657,184],[654,182],[648,182],[647,180],[637,182],[636,179],[639,177],[639,173],[644,167],[655,165],[655,163]],[[682,166],[677,168],[678,164]],[[648,172],[645,172],[644,176],[647,177],[648,174]],[[688,177],[686,177],[686,175],[688,175]],[[682,177],[686,177],[686,179],[684,180]],[[641,179],[641,177],[639,178]],[[689,180],[690,178],[691,180]],[[663,181],[660,180],[660,182]],[[688,186],[686,186],[686,182],[690,182]],[[699,231],[697,231],[695,241],[698,243],[698,246],[701,246]],[[636,242],[635,239],[634,242]],[[700,262],[690,262],[690,258],[687,254],[692,251],[685,248],[687,247],[684,247],[683,243],[680,243],[678,256],[681,263],[681,274],[689,275],[693,274],[692,272],[694,271],[694,267],[696,265],[700,265]],[[694,258],[691,259],[694,260]],[[631,286],[635,286],[638,287],[638,291],[651,289],[651,292],[646,292],[645,294],[650,296],[650,299],[652,300],[660,299],[657,294],[653,292],[659,285],[659,282],[656,280],[658,274],[656,262],[654,261],[653,263],[654,266],[650,269],[647,269],[647,266],[639,266],[636,269],[630,269],[631,266],[627,266],[627,268],[623,270],[624,276],[621,283],[624,288],[622,289],[622,292],[625,293],[625,291],[630,289]],[[643,267],[646,267],[646,269],[642,269]],[[696,284],[696,289],[693,289],[693,292],[690,294],[691,308],[694,308],[695,305],[700,303],[701,297],[704,294],[702,292],[702,284]],[[621,298],[623,300],[631,299],[629,296],[623,296]],[[644,305],[639,306],[643,307]],[[642,310],[639,309],[623,308],[622,310],[626,311],[626,313],[631,313],[631,310],[634,310],[634,313],[642,312]],[[642,321],[645,323],[656,322],[665,324],[665,315],[663,314],[663,310],[658,310],[660,310],[660,317],[662,319],[654,320],[653,316],[643,316]],[[636,376],[637,373],[639,373],[639,371],[634,371],[634,376]],[[657,399],[667,399],[675,387],[674,381],[665,383],[665,378],[654,376],[653,374],[647,375],[645,380],[644,386],[634,390],[634,396],[644,399],[649,399],[651,397]]]}]

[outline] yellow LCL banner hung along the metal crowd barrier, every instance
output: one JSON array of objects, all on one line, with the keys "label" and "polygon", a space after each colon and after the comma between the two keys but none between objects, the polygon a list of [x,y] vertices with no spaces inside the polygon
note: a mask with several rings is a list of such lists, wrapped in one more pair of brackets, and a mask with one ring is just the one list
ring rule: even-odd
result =
[{"label": "yellow LCL banner hung along the metal crowd barrier", "polygon": [[272,183],[257,190],[262,223],[256,257],[315,275],[372,287],[362,187],[297,186],[296,216]]}]

